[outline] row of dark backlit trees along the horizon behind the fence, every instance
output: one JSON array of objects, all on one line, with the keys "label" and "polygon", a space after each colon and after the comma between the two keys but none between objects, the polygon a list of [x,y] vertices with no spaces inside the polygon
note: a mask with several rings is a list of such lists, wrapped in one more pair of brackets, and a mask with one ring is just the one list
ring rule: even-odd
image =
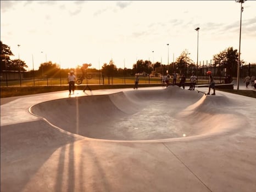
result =
[{"label": "row of dark backlit trees along the horizon behind the fence", "polygon": [[[163,65],[158,61],[152,63],[150,60],[137,60],[135,64],[132,65],[132,69],[118,68],[114,64],[113,60],[109,63],[104,63],[101,70],[88,69],[87,72],[102,72],[105,76],[134,76],[135,74],[153,74],[155,76],[161,74],[172,74],[174,71],[179,74],[185,74],[185,76],[190,76],[195,70],[201,71],[202,67],[205,65],[195,64],[194,61],[189,57],[188,50],[183,50],[179,57],[176,58],[175,62],[169,63],[169,65]],[[20,59],[10,59],[13,56],[12,50],[6,44],[1,41],[1,72],[3,71],[20,71],[25,72],[28,66],[25,61]],[[244,61],[241,60],[243,64]],[[220,75],[222,71],[231,76],[237,75],[237,65],[238,65],[238,52],[237,49],[233,47],[228,47],[222,50],[220,53],[213,55],[213,59],[209,63],[208,67],[217,67],[218,71],[216,75]],[[241,66],[240,66],[241,67]],[[80,65],[75,68],[60,69],[60,65],[57,63],[52,63],[52,61],[47,61],[47,63],[42,63],[38,70],[27,71],[24,73],[24,77],[66,77],[66,74],[70,70],[75,70],[80,72]],[[219,74],[218,74],[219,73]],[[26,75],[25,75],[26,74]]]}]

